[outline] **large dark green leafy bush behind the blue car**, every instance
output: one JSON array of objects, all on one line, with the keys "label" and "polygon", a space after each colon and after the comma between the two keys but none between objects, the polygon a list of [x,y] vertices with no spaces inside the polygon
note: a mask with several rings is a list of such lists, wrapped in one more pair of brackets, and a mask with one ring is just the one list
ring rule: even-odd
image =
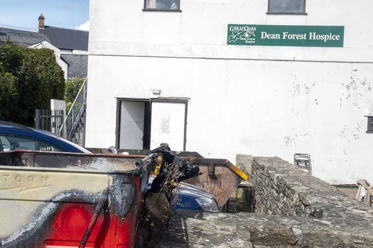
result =
[{"label": "large dark green leafy bush behind the blue car", "polygon": [[64,78],[49,49],[0,44],[0,119],[34,125],[35,109],[50,108],[50,99],[62,99]]}]

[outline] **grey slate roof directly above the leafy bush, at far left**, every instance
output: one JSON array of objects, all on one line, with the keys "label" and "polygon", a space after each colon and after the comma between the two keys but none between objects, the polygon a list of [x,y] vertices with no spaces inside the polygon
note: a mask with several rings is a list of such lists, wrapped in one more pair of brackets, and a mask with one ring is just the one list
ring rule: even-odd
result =
[{"label": "grey slate roof directly above the leafy bush, at far left", "polygon": [[29,47],[44,40],[51,43],[49,38],[41,33],[0,27],[0,42],[5,42],[8,38],[23,47]]}]

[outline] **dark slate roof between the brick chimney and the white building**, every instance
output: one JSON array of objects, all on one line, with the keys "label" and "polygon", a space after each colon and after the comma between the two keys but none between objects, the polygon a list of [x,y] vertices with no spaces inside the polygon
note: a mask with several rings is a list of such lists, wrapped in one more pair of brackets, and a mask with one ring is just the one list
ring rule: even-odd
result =
[{"label": "dark slate roof between the brick chimney and the white building", "polygon": [[88,51],[88,31],[45,26],[39,33],[48,36],[59,49]]}]

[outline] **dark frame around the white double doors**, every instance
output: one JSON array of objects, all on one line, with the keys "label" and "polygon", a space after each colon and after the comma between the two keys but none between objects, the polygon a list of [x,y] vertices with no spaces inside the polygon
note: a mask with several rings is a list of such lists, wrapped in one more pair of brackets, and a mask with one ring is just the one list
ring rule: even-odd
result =
[{"label": "dark frame around the white double doors", "polygon": [[[130,102],[149,102],[150,111],[152,102],[163,102],[163,103],[184,103],[185,104],[185,115],[184,115],[184,142],[183,142],[183,151],[186,150],[186,124],[187,124],[187,115],[188,115],[188,99],[185,98],[120,98],[117,97],[117,120],[115,127],[115,146],[119,148],[120,144],[120,134],[121,134],[121,113],[122,113],[122,104],[121,101],[130,101]],[[151,122],[151,120],[150,120]],[[151,135],[151,133],[150,133]]]}]

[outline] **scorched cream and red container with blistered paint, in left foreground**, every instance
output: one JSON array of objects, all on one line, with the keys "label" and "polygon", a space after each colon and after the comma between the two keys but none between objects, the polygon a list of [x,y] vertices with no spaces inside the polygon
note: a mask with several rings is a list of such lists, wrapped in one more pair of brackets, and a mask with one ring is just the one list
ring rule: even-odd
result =
[{"label": "scorched cream and red container with blistered paint, in left foreground", "polygon": [[154,154],[0,153],[0,247],[132,247],[154,162]]}]

